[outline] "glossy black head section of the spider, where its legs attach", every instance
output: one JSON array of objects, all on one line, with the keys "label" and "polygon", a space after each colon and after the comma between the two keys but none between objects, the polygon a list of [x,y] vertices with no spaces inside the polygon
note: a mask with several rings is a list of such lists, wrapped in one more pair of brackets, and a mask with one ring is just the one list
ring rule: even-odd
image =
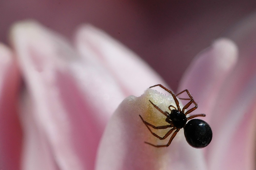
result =
[{"label": "glossy black head section of the spider, where its legs attach", "polygon": [[178,129],[183,128],[188,121],[186,115],[178,110],[172,110],[169,119],[172,120],[174,127]]}]

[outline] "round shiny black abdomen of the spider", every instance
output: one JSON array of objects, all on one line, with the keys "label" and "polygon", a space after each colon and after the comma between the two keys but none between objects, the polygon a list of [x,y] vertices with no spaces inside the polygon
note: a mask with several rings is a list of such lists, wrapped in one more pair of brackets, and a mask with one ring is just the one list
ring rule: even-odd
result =
[{"label": "round shiny black abdomen of the spider", "polygon": [[201,119],[188,121],[184,128],[184,135],[188,144],[194,148],[204,148],[212,139],[211,127]]}]

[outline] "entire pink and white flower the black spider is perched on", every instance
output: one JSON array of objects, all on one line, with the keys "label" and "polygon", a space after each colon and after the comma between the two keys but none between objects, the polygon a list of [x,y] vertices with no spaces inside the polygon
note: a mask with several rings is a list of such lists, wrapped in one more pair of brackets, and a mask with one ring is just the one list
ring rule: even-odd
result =
[{"label": "entire pink and white flower the black spider is perched on", "polygon": [[200,150],[182,132],[168,148],[143,143],[155,140],[138,117],[146,116],[148,97],[165,107],[172,99],[146,90],[166,83],[106,33],[83,25],[72,47],[37,22],[16,23],[12,48],[0,46],[0,168],[253,169],[255,38],[248,23],[246,35],[240,28],[229,35],[237,46],[222,38],[200,53],[179,85],[213,130]]}]

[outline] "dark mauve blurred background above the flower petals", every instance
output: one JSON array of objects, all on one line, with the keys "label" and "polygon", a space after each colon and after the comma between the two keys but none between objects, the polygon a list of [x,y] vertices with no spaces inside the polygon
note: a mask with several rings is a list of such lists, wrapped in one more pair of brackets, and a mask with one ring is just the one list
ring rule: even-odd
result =
[{"label": "dark mauve blurred background above the flower petals", "polygon": [[176,91],[193,57],[255,9],[253,0],[0,1],[0,41],[8,44],[10,26],[28,18],[71,41],[80,24],[91,23],[140,55]]}]

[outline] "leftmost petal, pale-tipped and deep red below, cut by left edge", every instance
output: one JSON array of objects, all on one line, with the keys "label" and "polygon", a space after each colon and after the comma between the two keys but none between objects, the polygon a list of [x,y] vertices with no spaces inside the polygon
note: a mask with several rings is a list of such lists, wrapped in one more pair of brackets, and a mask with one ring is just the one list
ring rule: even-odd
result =
[{"label": "leftmost petal, pale-tipped and deep red below, cut by left edge", "polygon": [[14,55],[0,43],[0,169],[19,169],[22,130],[17,102],[20,74]]}]

